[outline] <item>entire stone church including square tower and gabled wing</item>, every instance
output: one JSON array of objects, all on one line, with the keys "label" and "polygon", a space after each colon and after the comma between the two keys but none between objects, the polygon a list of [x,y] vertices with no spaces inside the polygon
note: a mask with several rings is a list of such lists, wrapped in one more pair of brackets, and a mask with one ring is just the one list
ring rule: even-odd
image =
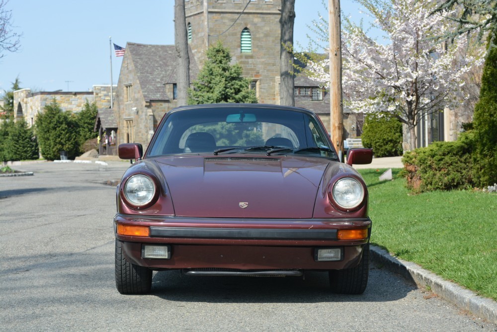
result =
[{"label": "entire stone church including square tower and gabled wing", "polygon": [[[189,0],[185,16],[190,82],[196,79],[209,46],[220,40],[230,49],[232,62],[242,66],[258,102],[280,103],[281,0]],[[127,43],[114,99],[115,121],[108,122],[118,126],[116,145],[136,142],[146,149],[163,115],[176,106],[175,67],[174,45]],[[316,112],[329,130],[330,100],[319,85],[298,76],[295,105]],[[102,118],[108,114],[102,113]],[[346,137],[356,137],[356,127],[355,115],[344,115]]]}]

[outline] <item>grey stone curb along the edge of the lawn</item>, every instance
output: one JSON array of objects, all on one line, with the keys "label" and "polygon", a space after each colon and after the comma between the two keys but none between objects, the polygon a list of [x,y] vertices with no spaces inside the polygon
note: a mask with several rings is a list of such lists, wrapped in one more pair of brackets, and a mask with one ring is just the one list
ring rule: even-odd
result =
[{"label": "grey stone curb along the edge of the lawn", "polygon": [[413,262],[396,258],[384,249],[371,246],[370,250],[372,260],[383,264],[390,271],[399,273],[420,287],[429,286],[433,293],[459,308],[497,324],[497,303],[495,301],[478,296],[475,292],[449,282]]}]

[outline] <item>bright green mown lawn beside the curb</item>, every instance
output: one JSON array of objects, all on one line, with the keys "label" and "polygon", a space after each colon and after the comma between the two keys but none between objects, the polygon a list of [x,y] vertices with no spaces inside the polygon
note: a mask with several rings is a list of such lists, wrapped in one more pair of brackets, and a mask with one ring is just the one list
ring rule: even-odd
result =
[{"label": "bright green mown lawn beside the curb", "polygon": [[369,189],[371,242],[445,279],[497,300],[497,194],[436,191],[411,195],[393,169],[359,170]]}]

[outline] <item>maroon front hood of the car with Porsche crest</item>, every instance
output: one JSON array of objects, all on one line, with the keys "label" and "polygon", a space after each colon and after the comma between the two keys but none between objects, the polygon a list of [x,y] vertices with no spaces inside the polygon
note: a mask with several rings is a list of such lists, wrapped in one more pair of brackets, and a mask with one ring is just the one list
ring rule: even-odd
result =
[{"label": "maroon front hood of the car with Porsche crest", "polygon": [[185,156],[155,159],[174,214],[217,218],[312,218],[326,168],[300,157]]}]

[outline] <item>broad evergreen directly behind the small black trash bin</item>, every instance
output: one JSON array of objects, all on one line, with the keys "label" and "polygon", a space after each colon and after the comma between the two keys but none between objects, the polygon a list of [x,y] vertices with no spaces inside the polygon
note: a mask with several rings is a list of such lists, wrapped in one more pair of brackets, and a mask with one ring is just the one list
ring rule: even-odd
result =
[{"label": "broad evergreen directly behind the small black trash bin", "polygon": [[55,99],[36,117],[36,135],[41,155],[47,160],[60,159],[66,151],[69,159],[79,154],[79,130],[74,117],[63,112]]}]

